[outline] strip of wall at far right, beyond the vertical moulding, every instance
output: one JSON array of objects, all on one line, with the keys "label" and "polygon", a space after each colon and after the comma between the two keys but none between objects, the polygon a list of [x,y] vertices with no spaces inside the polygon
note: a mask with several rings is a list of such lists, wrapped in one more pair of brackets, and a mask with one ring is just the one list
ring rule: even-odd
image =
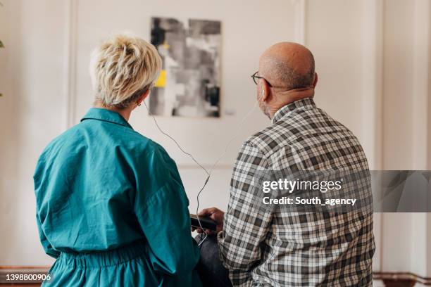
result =
[{"label": "strip of wall at far right, beyond the vertical moulding", "polygon": [[[430,3],[386,0],[383,78],[383,167],[427,170],[429,136]],[[382,265],[385,271],[430,276],[430,216],[382,215]]]}]

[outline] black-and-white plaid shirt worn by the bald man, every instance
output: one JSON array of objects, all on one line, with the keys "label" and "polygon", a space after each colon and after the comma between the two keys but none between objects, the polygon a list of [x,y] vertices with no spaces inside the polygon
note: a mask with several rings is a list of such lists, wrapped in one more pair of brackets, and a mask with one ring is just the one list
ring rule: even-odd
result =
[{"label": "black-and-white plaid shirt worn by the bald man", "polygon": [[259,170],[341,169],[368,170],[366,155],[311,98],[278,110],[243,144],[218,234],[233,286],[372,286],[372,213],[268,212],[251,192]]}]

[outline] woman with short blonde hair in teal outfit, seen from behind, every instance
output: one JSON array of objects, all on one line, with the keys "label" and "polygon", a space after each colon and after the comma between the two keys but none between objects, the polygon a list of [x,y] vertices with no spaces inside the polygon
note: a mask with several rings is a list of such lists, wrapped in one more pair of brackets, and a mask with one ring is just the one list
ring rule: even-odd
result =
[{"label": "woman with short blonde hair in teal outfit, seen from behind", "polygon": [[46,286],[201,286],[180,174],[129,125],[161,70],[154,46],[117,35],[92,55],[95,103],[44,149],[37,224],[56,258]]}]

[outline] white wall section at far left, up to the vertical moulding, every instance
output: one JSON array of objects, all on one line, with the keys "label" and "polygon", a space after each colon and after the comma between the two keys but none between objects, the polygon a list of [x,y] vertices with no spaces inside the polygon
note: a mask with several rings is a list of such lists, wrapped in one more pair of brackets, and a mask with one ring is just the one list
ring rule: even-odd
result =
[{"label": "white wall section at far left, up to the vertical moulding", "polygon": [[32,172],[64,128],[64,8],[61,1],[1,2],[0,264],[45,264],[51,261],[37,240]]}]

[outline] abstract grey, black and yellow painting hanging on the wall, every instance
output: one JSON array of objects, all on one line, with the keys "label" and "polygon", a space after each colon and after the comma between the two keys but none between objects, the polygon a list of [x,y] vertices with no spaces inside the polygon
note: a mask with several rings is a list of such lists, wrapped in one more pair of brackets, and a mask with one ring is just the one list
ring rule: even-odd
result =
[{"label": "abstract grey, black and yellow painting hanging on the wall", "polygon": [[221,23],[151,18],[163,68],[149,97],[153,115],[220,116]]}]

